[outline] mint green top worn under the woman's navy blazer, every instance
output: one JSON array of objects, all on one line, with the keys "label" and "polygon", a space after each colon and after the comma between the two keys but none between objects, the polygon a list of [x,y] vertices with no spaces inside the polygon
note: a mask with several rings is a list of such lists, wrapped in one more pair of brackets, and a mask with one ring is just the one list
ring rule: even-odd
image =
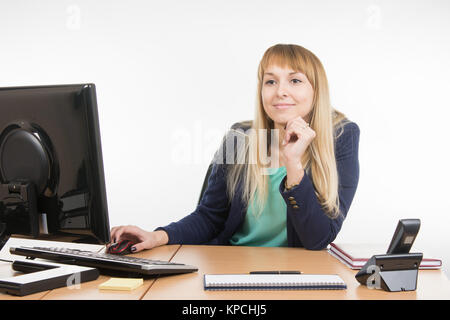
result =
[{"label": "mint green top worn under the woman's navy blazer", "polygon": [[286,176],[286,167],[269,169],[268,198],[257,217],[253,204],[248,206],[245,220],[230,243],[238,246],[287,247],[286,203],[279,186]]}]

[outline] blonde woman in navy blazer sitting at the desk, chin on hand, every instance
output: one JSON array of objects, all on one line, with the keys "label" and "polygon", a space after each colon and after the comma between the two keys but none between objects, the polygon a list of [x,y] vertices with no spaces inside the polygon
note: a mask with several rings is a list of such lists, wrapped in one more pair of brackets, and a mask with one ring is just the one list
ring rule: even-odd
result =
[{"label": "blonde woman in navy blazer sitting at the desk, chin on hand", "polygon": [[356,192],[359,128],[331,107],[320,60],[297,45],[269,48],[255,119],[237,135],[238,152],[225,152],[237,161],[216,154],[193,213],[153,232],[115,227],[113,242],[131,240],[134,252],[174,243],[326,248]]}]

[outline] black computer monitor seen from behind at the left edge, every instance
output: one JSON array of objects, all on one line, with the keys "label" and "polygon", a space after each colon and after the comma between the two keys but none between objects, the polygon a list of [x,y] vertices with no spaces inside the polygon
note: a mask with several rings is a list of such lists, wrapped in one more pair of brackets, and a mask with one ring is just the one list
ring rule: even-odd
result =
[{"label": "black computer monitor seen from behind at the left edge", "polygon": [[109,242],[94,84],[0,88],[0,180],[2,232]]}]

